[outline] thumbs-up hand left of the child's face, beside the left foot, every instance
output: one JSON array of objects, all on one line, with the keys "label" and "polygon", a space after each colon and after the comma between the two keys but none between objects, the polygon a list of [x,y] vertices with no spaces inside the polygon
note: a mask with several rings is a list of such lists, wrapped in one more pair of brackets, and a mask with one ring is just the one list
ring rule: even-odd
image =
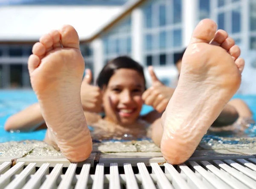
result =
[{"label": "thumbs-up hand left of the child's face, beside the left foot", "polygon": [[84,111],[99,113],[102,112],[102,92],[98,86],[90,85],[92,72],[85,70],[86,74],[81,84],[81,102]]}]

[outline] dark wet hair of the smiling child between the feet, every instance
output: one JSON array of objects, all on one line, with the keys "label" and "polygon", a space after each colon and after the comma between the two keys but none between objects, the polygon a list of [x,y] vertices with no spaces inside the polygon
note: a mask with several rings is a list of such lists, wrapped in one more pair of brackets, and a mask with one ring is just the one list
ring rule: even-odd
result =
[{"label": "dark wet hair of the smiling child between the feet", "polygon": [[104,86],[108,86],[108,82],[112,75],[115,73],[117,69],[133,69],[137,71],[144,80],[144,83],[146,85],[145,76],[143,72],[143,66],[141,66],[139,63],[137,63],[135,60],[131,59],[128,56],[120,56],[116,57],[113,60],[110,60],[102,69],[102,71],[99,73],[99,76],[97,78],[97,85],[102,89]]}]

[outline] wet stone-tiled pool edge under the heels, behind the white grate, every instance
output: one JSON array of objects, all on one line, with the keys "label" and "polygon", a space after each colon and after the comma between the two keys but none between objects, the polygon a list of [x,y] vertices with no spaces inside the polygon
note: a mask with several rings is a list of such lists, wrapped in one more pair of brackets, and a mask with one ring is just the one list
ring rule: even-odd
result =
[{"label": "wet stone-tiled pool edge under the heels, behind the white grate", "polygon": [[[189,160],[210,160],[223,157],[232,159],[232,157],[242,156],[244,158],[256,157],[255,138],[245,138],[241,144],[210,144],[201,142],[195,153]],[[250,142],[251,141],[251,142]],[[14,159],[14,163],[26,162],[26,165],[35,162],[38,166],[43,163],[50,163],[50,166],[55,166],[57,163],[63,163],[65,167],[69,166],[68,161],[61,152],[56,151],[52,146],[38,140],[25,140],[21,142],[0,143],[0,163]],[[105,142],[94,143],[93,152],[86,161],[81,162],[78,166],[84,163],[90,163],[91,166],[96,166],[97,163],[104,163],[109,166],[110,163],[131,163],[136,165],[138,162],[143,162],[145,165],[150,163],[158,163],[163,165],[166,163],[161,155],[160,148],[154,143],[143,141],[128,141],[128,142]]]}]

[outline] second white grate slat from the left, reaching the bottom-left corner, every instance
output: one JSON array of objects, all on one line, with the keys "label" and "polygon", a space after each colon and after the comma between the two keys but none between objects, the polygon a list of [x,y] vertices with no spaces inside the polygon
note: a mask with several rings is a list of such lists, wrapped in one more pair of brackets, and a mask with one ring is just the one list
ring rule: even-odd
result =
[{"label": "second white grate slat from the left, reaching the bottom-left corner", "polygon": [[10,181],[12,175],[15,175],[15,173],[18,174],[18,172],[23,169],[25,162],[18,162],[15,166],[13,166],[11,169],[9,169],[7,172],[5,172],[0,177],[0,188],[6,187]]}]

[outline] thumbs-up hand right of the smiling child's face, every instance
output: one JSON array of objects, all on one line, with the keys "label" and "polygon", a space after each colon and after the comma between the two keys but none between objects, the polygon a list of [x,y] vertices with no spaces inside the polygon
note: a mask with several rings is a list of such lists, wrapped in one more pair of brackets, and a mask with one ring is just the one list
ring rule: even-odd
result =
[{"label": "thumbs-up hand right of the smiling child's face", "polygon": [[175,89],[160,82],[154,73],[153,66],[148,66],[148,72],[151,76],[152,86],[143,93],[142,99],[146,105],[153,106],[157,112],[163,112]]}]

